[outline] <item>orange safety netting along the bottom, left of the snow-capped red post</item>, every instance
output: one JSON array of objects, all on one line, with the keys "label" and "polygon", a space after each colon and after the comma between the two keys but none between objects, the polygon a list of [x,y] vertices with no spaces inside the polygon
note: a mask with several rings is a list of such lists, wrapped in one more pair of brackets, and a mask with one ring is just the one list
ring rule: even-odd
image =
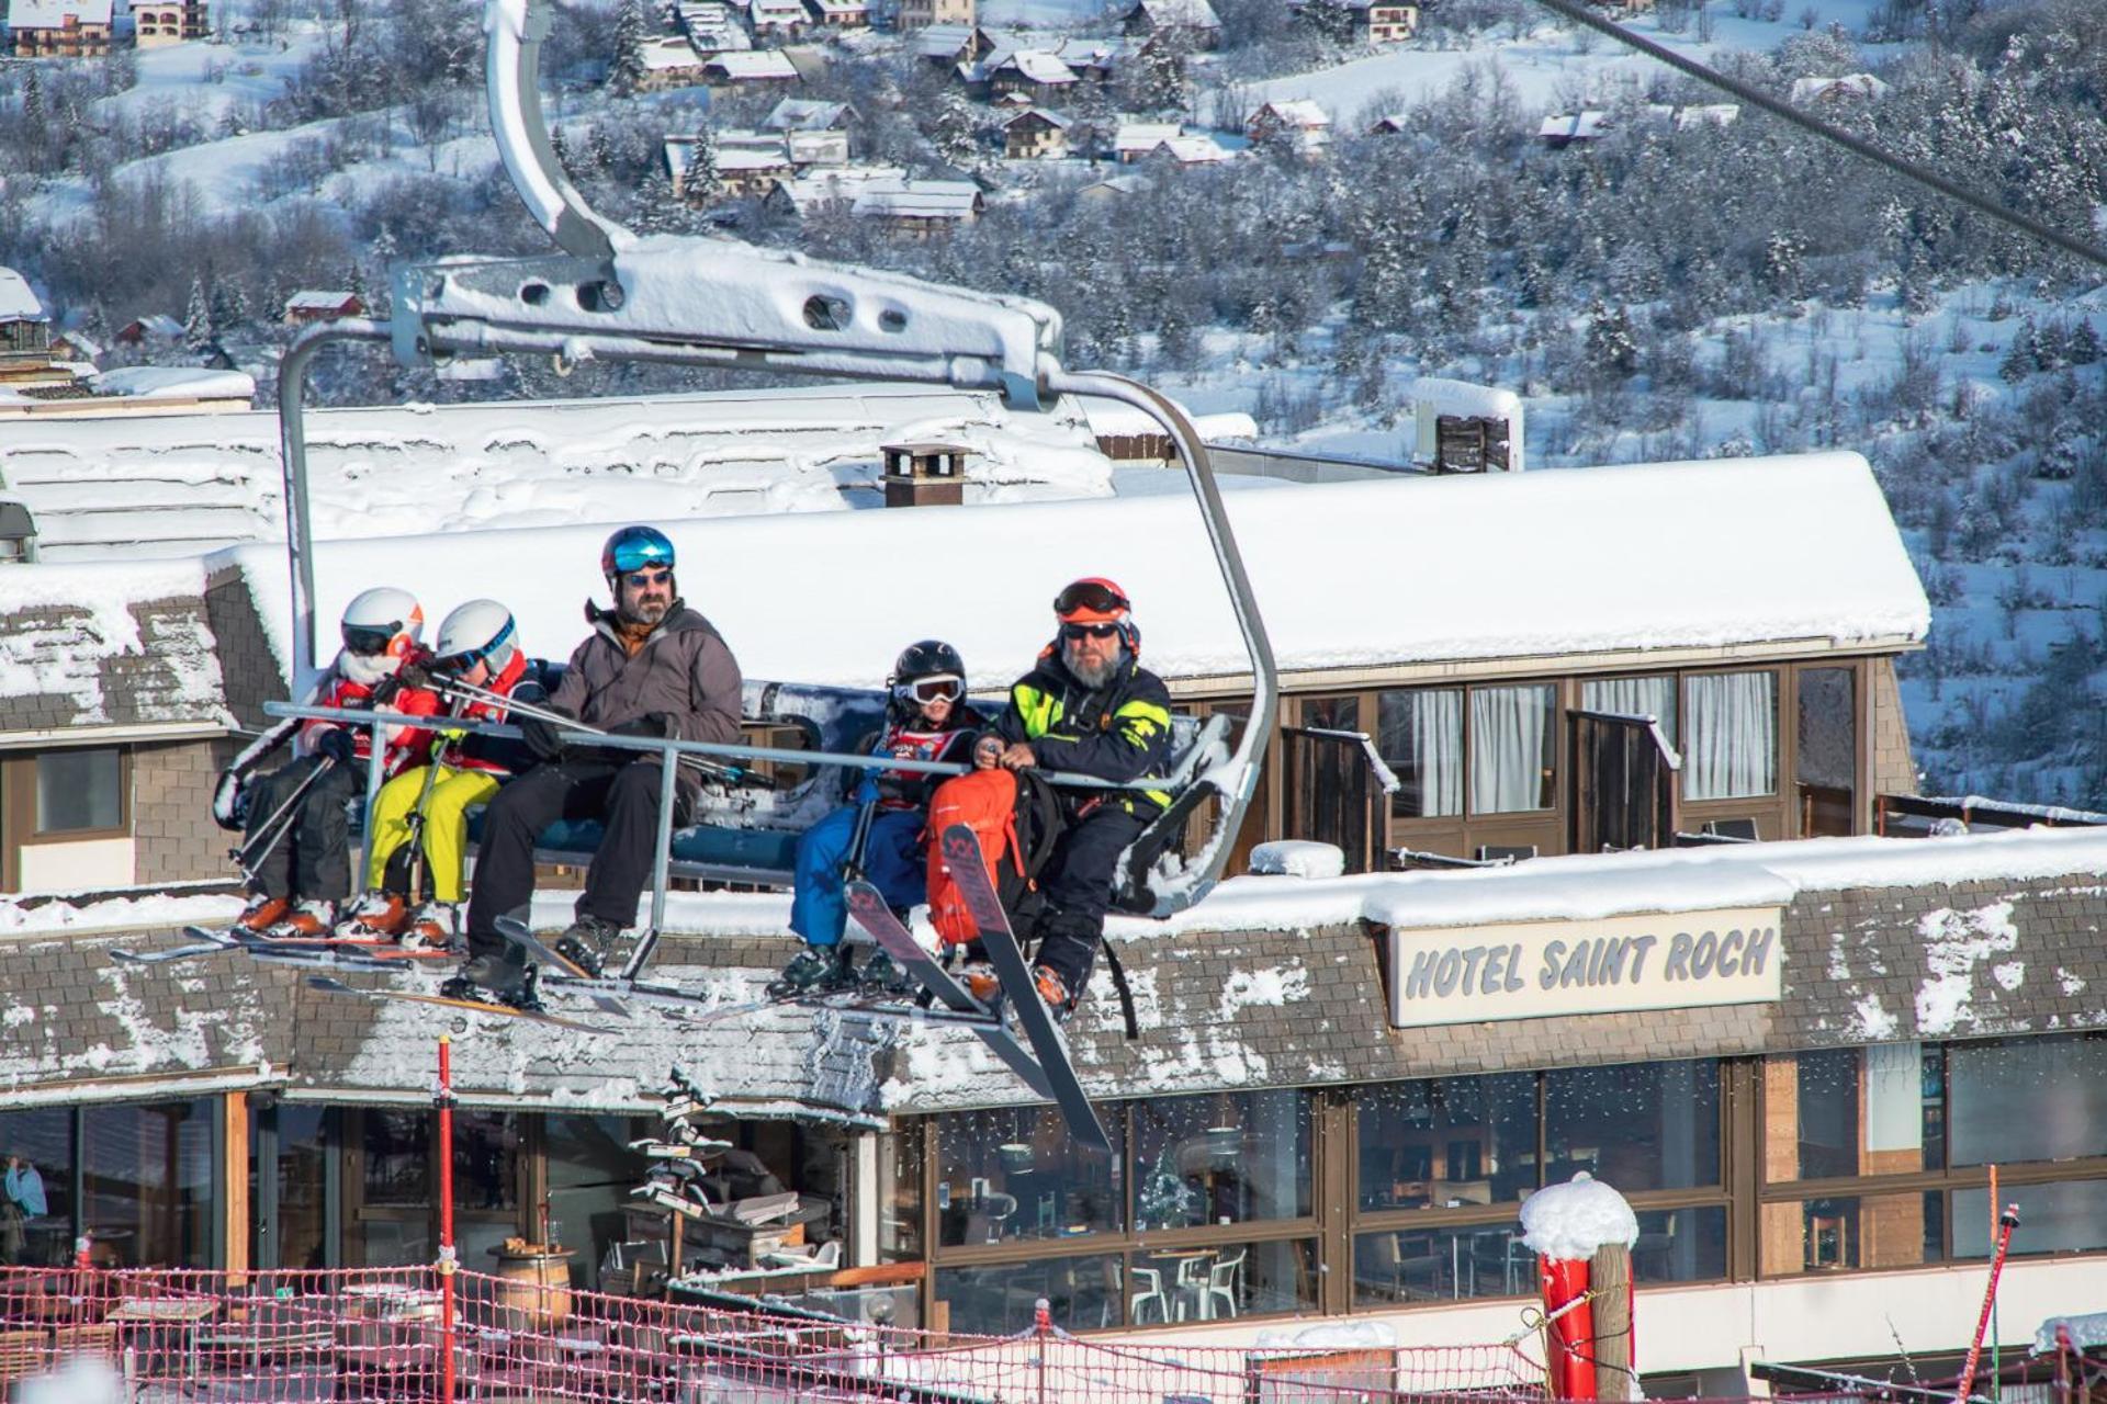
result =
[{"label": "orange safety netting along the bottom, left of the snow-capped red post", "polygon": [[[440,1400],[432,1267],[352,1271],[0,1269],[0,1391],[101,1356],[129,1398]],[[453,1273],[453,1398],[579,1404],[1346,1404],[1547,1398],[1515,1343],[1224,1347],[961,1337],[607,1297]]]}]

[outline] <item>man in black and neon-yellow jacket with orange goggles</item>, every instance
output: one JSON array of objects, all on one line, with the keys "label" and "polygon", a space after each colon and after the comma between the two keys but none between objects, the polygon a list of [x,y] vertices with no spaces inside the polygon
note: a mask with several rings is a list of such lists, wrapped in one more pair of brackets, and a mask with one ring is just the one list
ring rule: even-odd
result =
[{"label": "man in black and neon-yellow jacket with orange goggles", "polygon": [[[1127,591],[1112,581],[1075,581],[1054,600],[1060,636],[1009,688],[1009,705],[986,730],[973,764],[1043,766],[1138,781],[1163,775],[1171,707],[1163,680],[1140,665],[1142,634]],[[1089,983],[1112,903],[1112,871],[1148,821],[1169,804],[1153,789],[1062,789],[1062,836],[1039,876],[1039,994],[1066,1012]],[[1022,932],[1020,932],[1022,935]]]}]

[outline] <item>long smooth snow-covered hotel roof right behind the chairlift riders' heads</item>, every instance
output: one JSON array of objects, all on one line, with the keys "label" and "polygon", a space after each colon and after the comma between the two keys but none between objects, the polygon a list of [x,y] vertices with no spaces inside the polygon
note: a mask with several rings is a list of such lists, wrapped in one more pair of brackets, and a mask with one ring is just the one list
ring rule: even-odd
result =
[{"label": "long smooth snow-covered hotel roof right behind the chairlift riders' heads", "polygon": [[[504,425],[508,410],[516,423],[516,408],[478,413],[510,442],[518,432]],[[634,434],[634,406],[628,417]],[[434,419],[424,421],[428,434]],[[529,438],[548,450],[556,434]],[[489,469],[470,461],[453,476],[487,482]],[[369,474],[358,484],[375,512],[356,528],[415,530],[417,514],[386,509],[381,482]],[[976,686],[1001,686],[1045,642],[1049,591],[1079,575],[1129,589],[1157,671],[1247,669],[1199,514],[1182,495],[666,520],[664,488],[622,486],[603,474],[539,501],[523,495],[510,514],[565,526],[324,541],[320,617],[377,581],[417,587],[432,617],[506,581],[529,648],[567,648],[579,600],[605,591],[605,522],[634,505],[634,520],[657,520],[683,560],[697,562],[683,575],[689,600],[756,678],[877,686],[891,646],[874,640],[929,634],[965,653]],[[1226,501],[1283,671],[1812,640],[1896,646],[1922,640],[1930,623],[1879,484],[1852,453],[1281,486]],[[603,524],[577,526],[586,509]],[[350,516],[337,505],[324,520]],[[440,530],[461,516],[426,509],[424,520]],[[1787,558],[1793,568],[1776,568]],[[518,570],[523,560],[537,568]],[[973,587],[902,613],[898,591],[841,589],[830,568],[794,564],[912,560],[944,560]],[[282,631],[282,549],[251,547],[244,562],[268,627]]]}]

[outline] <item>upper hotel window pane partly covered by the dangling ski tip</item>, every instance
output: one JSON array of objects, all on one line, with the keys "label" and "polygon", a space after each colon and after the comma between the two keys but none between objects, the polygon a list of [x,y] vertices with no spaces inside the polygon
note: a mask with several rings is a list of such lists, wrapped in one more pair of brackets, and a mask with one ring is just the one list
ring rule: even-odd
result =
[{"label": "upper hotel window pane partly covered by the dangling ski tip", "polygon": [[1125,1227],[1123,1126],[1108,1118],[1112,1154],[1094,1156],[1075,1143],[1054,1107],[938,1118],[938,1242],[1117,1233]]}]

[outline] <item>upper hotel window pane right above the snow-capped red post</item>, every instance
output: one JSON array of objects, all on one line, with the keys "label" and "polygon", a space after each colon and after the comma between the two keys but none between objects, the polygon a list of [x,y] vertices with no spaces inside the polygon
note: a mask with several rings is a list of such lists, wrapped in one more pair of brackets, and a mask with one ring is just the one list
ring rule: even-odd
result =
[{"label": "upper hotel window pane right above the snow-capped red post", "polygon": [[1719,1183],[1719,1065],[1544,1074],[1544,1183],[1587,1170],[1624,1194]]}]

